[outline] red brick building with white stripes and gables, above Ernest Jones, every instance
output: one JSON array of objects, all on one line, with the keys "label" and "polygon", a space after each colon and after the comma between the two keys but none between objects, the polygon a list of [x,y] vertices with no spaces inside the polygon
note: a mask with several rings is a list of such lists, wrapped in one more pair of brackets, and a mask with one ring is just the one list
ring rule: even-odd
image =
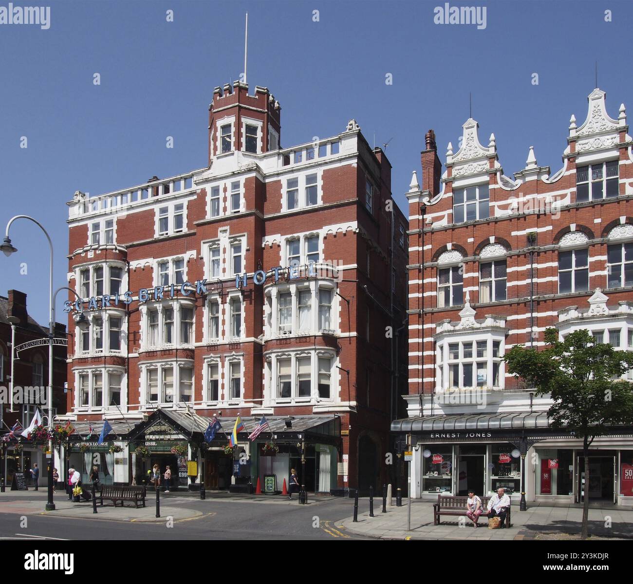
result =
[{"label": "red brick building with white stripes and gables, above Ernest Jones", "polygon": [[[504,486],[572,502],[586,488],[580,440],[553,435],[549,400],[506,373],[502,357],[512,345],[541,347],[551,326],[633,350],[633,142],[624,104],[611,118],[604,92],[588,101],[553,174],[530,146],[525,168],[506,176],[494,134],[483,145],[472,119],[442,173],[427,134],[422,187],[414,173],[407,194],[409,418],[392,425],[413,435],[416,497]],[[523,480],[522,437],[534,444]],[[591,497],[633,504],[620,481],[633,438],[592,449]]]}]

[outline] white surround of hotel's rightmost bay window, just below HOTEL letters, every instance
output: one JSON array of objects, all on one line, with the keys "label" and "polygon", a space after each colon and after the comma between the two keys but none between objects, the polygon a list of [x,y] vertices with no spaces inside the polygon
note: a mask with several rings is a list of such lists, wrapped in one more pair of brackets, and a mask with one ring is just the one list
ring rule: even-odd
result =
[{"label": "white surround of hotel's rightmost bay window, just below HOTEL letters", "polygon": [[[320,328],[319,294],[320,289],[330,290],[332,301],[330,304],[330,328]],[[299,291],[310,290],[310,328],[299,329]],[[340,304],[336,295],[336,287],[332,280],[297,280],[296,282],[283,282],[270,285],[265,290],[264,302],[264,337],[275,339],[279,337],[291,337],[294,335],[320,335],[323,331],[328,333],[340,333],[339,309]],[[279,330],[279,295],[289,292],[291,294],[291,329],[285,332]],[[270,300],[270,301],[269,301]],[[270,323],[270,325],[269,325]]]}]

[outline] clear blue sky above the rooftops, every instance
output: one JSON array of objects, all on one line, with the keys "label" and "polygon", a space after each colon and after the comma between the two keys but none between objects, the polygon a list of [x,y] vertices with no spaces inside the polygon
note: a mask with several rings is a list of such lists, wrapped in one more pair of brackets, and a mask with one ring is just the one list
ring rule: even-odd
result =
[{"label": "clear blue sky above the rooftops", "polygon": [[[468,118],[468,92],[482,142],[494,132],[509,175],[529,146],[540,165],[560,168],[570,115],[579,123],[586,115],[596,60],[610,115],[622,102],[633,114],[633,3],[625,0],[451,3],[485,5],[484,30],[436,25],[439,0],[25,3],[51,6],[51,27],[0,25],[0,228],[4,235],[18,213],[46,225],[56,286],[66,284],[65,203],[75,190],[96,195],[205,165],[208,104],[213,87],[242,71],[247,10],[249,85],[279,100],[282,146],[338,134],[356,118],[370,144],[374,132],[377,145],[391,140],[392,190],[403,206],[425,132],[436,131],[443,161]],[[14,224],[19,253],[0,256],[0,294],[27,292],[30,312],[46,323],[48,256],[38,231]]]}]

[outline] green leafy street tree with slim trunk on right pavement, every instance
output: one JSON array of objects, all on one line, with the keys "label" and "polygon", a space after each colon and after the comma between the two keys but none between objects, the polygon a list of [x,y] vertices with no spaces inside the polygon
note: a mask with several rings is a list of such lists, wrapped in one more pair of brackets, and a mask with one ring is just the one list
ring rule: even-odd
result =
[{"label": "green leafy street tree with slim trunk on right pavement", "polygon": [[633,423],[633,383],[621,377],[633,367],[633,352],[615,351],[594,341],[587,330],[558,340],[558,331],[545,331],[541,351],[515,345],[504,357],[509,373],[523,378],[536,395],[550,395],[548,415],[553,428],[582,438],[585,496],[582,538],[588,535],[589,446],[608,433],[608,426]]}]

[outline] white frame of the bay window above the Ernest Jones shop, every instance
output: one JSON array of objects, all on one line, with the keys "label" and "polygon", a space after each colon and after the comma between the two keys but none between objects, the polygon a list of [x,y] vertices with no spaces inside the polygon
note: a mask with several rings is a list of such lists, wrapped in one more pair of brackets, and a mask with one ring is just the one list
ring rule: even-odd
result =
[{"label": "white frame of the bay window above the Ernest Jones shop", "polygon": [[[486,342],[486,357],[477,357],[477,341]],[[499,342],[499,357],[494,357],[492,352],[493,342]],[[449,345],[458,344],[459,359],[449,358]],[[470,344],[473,346],[473,356],[463,357],[463,345]],[[505,354],[505,332],[503,330],[480,329],[472,332],[461,332],[459,334],[446,334],[436,336],[436,388],[438,390],[451,390],[449,387],[449,365],[459,365],[458,388],[459,389],[476,389],[477,385],[463,387],[463,364],[471,363],[473,365],[473,379],[477,375],[477,362],[486,361],[486,379],[492,380],[492,364],[499,364],[499,385],[495,385],[494,389],[503,389],[505,387],[505,364],[501,357]],[[479,386],[493,388],[493,386]]]}]

